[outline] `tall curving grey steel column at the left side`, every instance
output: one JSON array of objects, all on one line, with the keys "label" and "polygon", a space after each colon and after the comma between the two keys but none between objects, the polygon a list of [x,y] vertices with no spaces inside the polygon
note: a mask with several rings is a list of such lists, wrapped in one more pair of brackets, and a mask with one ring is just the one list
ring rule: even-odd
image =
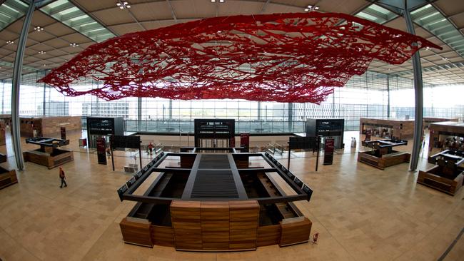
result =
[{"label": "tall curving grey steel column at the left side", "polygon": [[21,133],[19,131],[19,86],[21,86],[21,71],[23,68],[24,48],[26,46],[27,34],[31,25],[32,14],[36,7],[36,2],[32,0],[29,4],[26,17],[24,18],[23,29],[19,36],[16,57],[14,58],[13,81],[11,84],[11,143],[16,159],[16,168],[24,169],[24,158],[21,152]]}]

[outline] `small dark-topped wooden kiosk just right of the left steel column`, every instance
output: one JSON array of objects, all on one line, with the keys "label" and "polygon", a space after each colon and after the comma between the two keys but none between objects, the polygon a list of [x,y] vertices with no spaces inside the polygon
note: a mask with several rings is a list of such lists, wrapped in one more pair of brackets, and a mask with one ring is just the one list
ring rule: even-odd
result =
[{"label": "small dark-topped wooden kiosk just right of the left steel column", "polygon": [[56,138],[26,138],[26,143],[40,145],[40,148],[25,151],[23,153],[24,161],[31,161],[51,169],[74,160],[74,155],[71,150],[58,148],[63,145],[69,145],[69,140],[60,140]]}]

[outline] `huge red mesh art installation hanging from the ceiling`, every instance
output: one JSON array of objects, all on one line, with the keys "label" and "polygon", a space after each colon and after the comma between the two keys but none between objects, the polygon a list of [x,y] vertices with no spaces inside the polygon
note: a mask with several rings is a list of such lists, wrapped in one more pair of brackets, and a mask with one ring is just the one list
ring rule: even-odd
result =
[{"label": "huge red mesh art installation hanging from the ceiling", "polygon": [[[415,44],[416,43],[416,44]],[[215,17],[125,34],[89,46],[41,82],[66,96],[240,98],[321,103],[374,58],[400,64],[418,36],[346,14]],[[99,88],[71,83],[93,78]]]}]

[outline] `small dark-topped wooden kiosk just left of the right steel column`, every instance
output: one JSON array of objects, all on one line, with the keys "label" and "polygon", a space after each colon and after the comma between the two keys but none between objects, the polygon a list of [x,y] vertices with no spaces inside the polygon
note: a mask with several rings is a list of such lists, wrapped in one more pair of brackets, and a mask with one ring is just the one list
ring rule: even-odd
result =
[{"label": "small dark-topped wooden kiosk just left of the right steel column", "polygon": [[400,163],[408,163],[410,160],[410,153],[393,150],[395,146],[408,145],[407,140],[369,140],[363,141],[362,144],[372,150],[359,152],[358,161],[380,170]]}]

